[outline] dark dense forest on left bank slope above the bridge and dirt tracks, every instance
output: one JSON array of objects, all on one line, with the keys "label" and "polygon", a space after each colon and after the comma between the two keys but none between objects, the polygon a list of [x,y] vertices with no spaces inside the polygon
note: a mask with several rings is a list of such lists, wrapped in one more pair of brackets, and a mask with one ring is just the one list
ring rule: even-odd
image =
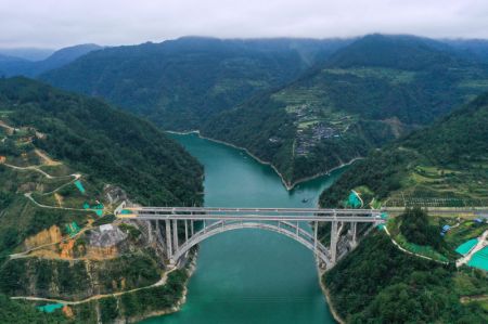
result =
[{"label": "dark dense forest on left bank slope above the bridge and dirt tracks", "polygon": [[197,205],[202,166],[153,125],[104,102],[24,78],[0,80],[9,120],[47,134],[34,144],[93,181],[125,189],[134,200]]}]

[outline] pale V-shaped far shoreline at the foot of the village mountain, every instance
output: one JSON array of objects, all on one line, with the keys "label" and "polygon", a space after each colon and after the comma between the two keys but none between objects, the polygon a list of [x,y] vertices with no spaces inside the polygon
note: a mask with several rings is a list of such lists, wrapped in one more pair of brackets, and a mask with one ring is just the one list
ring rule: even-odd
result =
[{"label": "pale V-shaped far shoreline at the foot of the village mountain", "polygon": [[278,177],[280,177],[281,182],[283,183],[283,185],[286,187],[287,191],[293,190],[297,184],[300,184],[300,183],[303,183],[303,182],[310,181],[310,180],[313,180],[313,179],[317,179],[317,178],[320,178],[320,177],[323,177],[323,176],[328,176],[328,174],[330,174],[331,172],[333,172],[333,171],[335,171],[335,170],[338,170],[338,169],[344,168],[344,167],[346,167],[346,166],[350,166],[351,164],[354,164],[355,161],[357,161],[357,160],[359,160],[359,159],[363,159],[363,157],[358,156],[358,157],[355,157],[355,158],[352,158],[351,160],[349,160],[349,161],[347,161],[347,163],[343,163],[343,164],[341,164],[341,165],[338,165],[338,166],[336,166],[336,167],[334,167],[334,168],[332,168],[332,169],[329,169],[329,170],[326,170],[326,171],[319,172],[319,173],[316,173],[316,174],[312,174],[312,176],[309,176],[309,177],[300,178],[300,179],[296,180],[295,182],[290,183],[290,182],[287,182],[287,181],[284,179],[283,174],[278,170],[278,168],[277,168],[273,164],[260,159],[259,157],[257,157],[256,155],[254,155],[253,153],[251,153],[251,152],[249,152],[247,148],[245,148],[245,147],[241,147],[241,146],[237,146],[237,145],[234,145],[234,144],[232,144],[232,143],[228,143],[228,142],[224,142],[224,141],[221,141],[221,140],[216,140],[216,139],[207,138],[207,137],[205,137],[205,135],[202,135],[202,133],[200,132],[200,130],[190,130],[190,131],[169,131],[169,130],[166,130],[165,132],[167,132],[167,133],[172,133],[172,134],[180,134],[180,135],[197,134],[198,138],[201,138],[201,139],[208,140],[208,141],[211,141],[211,142],[215,142],[215,143],[223,144],[223,145],[226,145],[226,146],[230,146],[230,147],[233,147],[233,148],[243,151],[243,152],[245,152],[247,155],[249,155],[252,158],[254,158],[255,160],[257,160],[258,163],[260,163],[261,165],[270,166],[270,167],[274,170],[274,172],[278,174]]}]

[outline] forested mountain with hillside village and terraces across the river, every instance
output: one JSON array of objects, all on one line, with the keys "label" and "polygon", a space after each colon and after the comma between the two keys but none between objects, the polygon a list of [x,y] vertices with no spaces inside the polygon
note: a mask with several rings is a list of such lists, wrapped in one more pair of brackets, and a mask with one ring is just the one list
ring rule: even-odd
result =
[{"label": "forested mountain with hillside village and terraces across the river", "polygon": [[292,184],[364,156],[487,87],[486,66],[447,44],[370,35],[201,130],[271,163]]}]

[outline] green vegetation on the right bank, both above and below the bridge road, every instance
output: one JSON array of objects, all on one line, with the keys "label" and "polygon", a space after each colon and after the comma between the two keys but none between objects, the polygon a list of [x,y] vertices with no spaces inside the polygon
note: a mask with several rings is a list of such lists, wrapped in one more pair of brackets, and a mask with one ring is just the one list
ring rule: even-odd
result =
[{"label": "green vegetation on the right bank, both above and below the bridge road", "polygon": [[[442,198],[441,203],[455,197],[486,200],[486,125],[488,94],[483,94],[433,126],[372,152],[325,190],[320,204],[341,207],[357,187],[375,199],[412,205],[425,197]],[[442,238],[444,224],[453,229]],[[411,209],[389,220],[387,228],[403,248],[446,262],[459,258],[454,249],[479,236],[486,224],[437,219]],[[488,293],[486,272],[409,255],[384,232],[363,238],[325,274],[324,283],[334,308],[348,323],[488,321],[486,300],[477,300]]]}]

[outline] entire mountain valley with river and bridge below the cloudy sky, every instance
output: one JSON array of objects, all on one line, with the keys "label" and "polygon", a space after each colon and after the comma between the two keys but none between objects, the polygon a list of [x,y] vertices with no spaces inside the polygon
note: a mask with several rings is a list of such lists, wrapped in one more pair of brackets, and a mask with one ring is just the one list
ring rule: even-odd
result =
[{"label": "entire mountain valley with river and bridge below the cloudy sky", "polygon": [[[486,323],[484,46],[183,37],[0,57],[24,76],[0,79],[0,322]],[[226,228],[201,206],[255,209]],[[333,221],[256,224],[257,208]],[[180,255],[189,215],[206,236]]]}]

